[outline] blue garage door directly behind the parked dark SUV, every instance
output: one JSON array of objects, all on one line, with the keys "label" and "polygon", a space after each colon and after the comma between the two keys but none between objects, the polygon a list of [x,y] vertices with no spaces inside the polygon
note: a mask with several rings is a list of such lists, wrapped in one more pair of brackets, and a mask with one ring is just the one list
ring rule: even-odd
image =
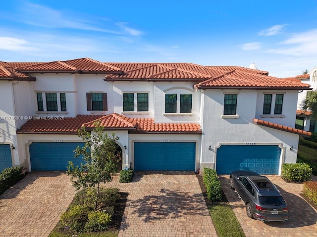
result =
[{"label": "blue garage door directly behind the parked dark SUV", "polygon": [[251,170],[259,174],[278,174],[281,149],[278,146],[221,145],[217,149],[216,171]]}]

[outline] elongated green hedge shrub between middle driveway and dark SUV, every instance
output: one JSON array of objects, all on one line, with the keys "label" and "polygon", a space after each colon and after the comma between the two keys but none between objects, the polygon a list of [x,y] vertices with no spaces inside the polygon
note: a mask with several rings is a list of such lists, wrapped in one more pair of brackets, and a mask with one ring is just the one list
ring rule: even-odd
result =
[{"label": "elongated green hedge shrub between middle driveway and dark SUV", "polygon": [[214,169],[204,168],[204,183],[207,188],[207,197],[210,201],[221,200],[221,184]]}]

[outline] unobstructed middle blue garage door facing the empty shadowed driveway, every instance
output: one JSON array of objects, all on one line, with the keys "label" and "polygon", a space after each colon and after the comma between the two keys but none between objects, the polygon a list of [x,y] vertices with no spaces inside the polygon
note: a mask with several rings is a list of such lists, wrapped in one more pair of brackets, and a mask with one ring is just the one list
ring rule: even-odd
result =
[{"label": "unobstructed middle blue garage door facing the empty shadowed driveway", "polygon": [[135,170],[193,170],[194,142],[135,142]]}]

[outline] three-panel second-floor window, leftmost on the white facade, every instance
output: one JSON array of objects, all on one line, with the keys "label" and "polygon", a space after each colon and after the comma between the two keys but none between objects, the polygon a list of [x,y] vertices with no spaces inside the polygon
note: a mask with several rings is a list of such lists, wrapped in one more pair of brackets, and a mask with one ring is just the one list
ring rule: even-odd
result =
[{"label": "three-panel second-floor window, leftmost on the white facade", "polygon": [[[64,92],[37,92],[36,97],[38,111],[67,111],[66,94]],[[45,98],[45,100],[43,100],[43,98]],[[58,104],[60,104],[60,107],[58,106]],[[44,105],[46,105],[46,107]]]}]

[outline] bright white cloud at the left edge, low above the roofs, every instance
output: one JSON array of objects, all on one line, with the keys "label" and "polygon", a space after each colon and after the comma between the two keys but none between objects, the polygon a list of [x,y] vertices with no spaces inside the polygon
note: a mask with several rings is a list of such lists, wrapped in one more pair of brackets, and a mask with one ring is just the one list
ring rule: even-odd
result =
[{"label": "bright white cloud at the left edge, low above the roofs", "polygon": [[0,49],[8,51],[31,51],[34,47],[27,46],[28,41],[13,37],[0,37]]}]

